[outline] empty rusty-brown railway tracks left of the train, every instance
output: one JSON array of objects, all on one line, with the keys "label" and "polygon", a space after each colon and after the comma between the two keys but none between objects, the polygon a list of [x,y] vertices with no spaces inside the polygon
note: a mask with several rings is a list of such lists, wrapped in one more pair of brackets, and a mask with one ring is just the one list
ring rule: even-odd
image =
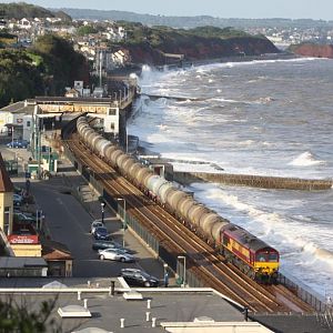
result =
[{"label": "empty rusty-brown railway tracks left of the train", "polygon": [[186,254],[190,270],[206,286],[218,290],[252,312],[313,312],[286,289],[262,286],[233,265],[223,263],[222,255],[93,154],[75,134],[69,132],[67,139],[64,144],[77,160],[93,170],[105,191],[112,196],[124,198],[128,213],[140,221],[171,253]]}]

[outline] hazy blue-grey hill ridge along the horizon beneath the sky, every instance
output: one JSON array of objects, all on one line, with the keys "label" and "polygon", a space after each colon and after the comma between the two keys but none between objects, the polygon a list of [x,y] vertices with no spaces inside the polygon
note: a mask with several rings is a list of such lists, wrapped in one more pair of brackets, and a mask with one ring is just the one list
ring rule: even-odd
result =
[{"label": "hazy blue-grey hill ridge along the horizon beneath the sky", "polygon": [[129,11],[118,10],[92,10],[92,9],[74,9],[62,8],[64,12],[73,19],[90,19],[90,20],[124,20],[131,22],[141,22],[147,26],[168,26],[173,28],[195,28],[202,26],[214,26],[220,28],[234,27],[238,29],[253,27],[276,27],[276,28],[315,28],[315,27],[333,27],[333,21],[326,22],[323,20],[311,19],[222,19],[210,16],[196,17],[165,17],[152,14],[139,14]]}]

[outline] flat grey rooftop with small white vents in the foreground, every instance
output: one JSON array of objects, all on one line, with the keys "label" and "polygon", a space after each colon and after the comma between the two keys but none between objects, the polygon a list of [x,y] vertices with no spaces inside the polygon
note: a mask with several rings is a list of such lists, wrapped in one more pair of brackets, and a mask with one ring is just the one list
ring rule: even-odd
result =
[{"label": "flat grey rooftop with small white vents in the foreground", "polygon": [[[327,314],[249,312],[249,322],[244,322],[242,309],[211,289],[138,289],[143,300],[132,301],[123,297],[123,290],[119,283],[115,284],[115,294],[110,295],[110,279],[91,279],[89,284],[84,279],[75,278],[63,278],[58,281],[48,278],[1,279],[0,300],[6,301],[10,296],[16,303],[29,306],[31,311],[39,311],[43,301],[53,301],[51,319],[56,319],[62,329],[60,332],[80,332],[88,327],[97,327],[114,333],[165,331],[220,333],[226,332],[224,331],[226,327],[232,327],[233,332],[329,333],[333,327],[333,322],[327,321],[330,319]],[[49,287],[43,289],[43,285]],[[81,292],[80,297],[78,291]],[[61,319],[59,307],[84,306],[84,300],[91,317]],[[149,300],[150,309],[148,309]],[[147,321],[148,312],[149,321]],[[152,327],[152,317],[157,319],[155,327]],[[124,319],[124,329],[120,329],[121,319]],[[97,329],[91,332],[100,332]]]}]

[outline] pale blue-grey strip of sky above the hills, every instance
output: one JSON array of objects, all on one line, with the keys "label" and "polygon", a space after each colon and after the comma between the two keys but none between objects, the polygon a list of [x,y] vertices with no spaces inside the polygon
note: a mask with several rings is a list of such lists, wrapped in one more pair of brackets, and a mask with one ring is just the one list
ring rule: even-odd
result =
[{"label": "pale blue-grey strip of sky above the hills", "polygon": [[[23,1],[23,0],[20,0]],[[0,0],[0,2],[20,2]],[[123,10],[161,16],[333,20],[333,0],[26,0],[46,8]]]}]

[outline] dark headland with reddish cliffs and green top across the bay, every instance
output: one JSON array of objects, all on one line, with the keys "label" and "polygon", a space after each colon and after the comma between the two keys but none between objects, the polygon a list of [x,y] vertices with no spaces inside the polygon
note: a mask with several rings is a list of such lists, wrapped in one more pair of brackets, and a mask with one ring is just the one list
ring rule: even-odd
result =
[{"label": "dark headland with reddish cliffs and green top across the bay", "polygon": [[164,64],[170,61],[165,54],[171,53],[183,57],[185,61],[279,53],[265,37],[251,36],[232,28],[200,27],[185,30],[121,23],[128,32],[127,39],[113,43],[111,48],[129,50],[134,63]]}]

